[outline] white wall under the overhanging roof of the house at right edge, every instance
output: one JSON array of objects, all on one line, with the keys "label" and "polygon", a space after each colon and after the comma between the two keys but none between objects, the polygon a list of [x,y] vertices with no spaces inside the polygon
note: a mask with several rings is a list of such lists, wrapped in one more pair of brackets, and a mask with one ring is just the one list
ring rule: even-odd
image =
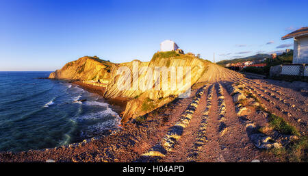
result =
[{"label": "white wall under the overhanging roof of the house at right edge", "polygon": [[308,64],[308,36],[294,39],[293,64]]}]

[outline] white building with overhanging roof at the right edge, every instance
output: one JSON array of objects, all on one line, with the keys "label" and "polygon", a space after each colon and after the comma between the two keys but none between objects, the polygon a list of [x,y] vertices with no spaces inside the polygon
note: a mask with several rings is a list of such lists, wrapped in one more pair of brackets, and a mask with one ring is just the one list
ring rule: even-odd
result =
[{"label": "white building with overhanging roof at the right edge", "polygon": [[302,27],[281,38],[294,38],[293,64],[308,64],[308,27]]}]

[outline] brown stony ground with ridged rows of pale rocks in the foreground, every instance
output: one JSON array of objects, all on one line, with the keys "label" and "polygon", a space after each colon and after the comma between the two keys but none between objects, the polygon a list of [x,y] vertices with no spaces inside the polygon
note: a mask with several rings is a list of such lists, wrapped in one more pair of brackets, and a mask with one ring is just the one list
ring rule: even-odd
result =
[{"label": "brown stony ground with ridged rows of pale rocks in the foreground", "polygon": [[[131,121],[116,134],[55,149],[0,153],[0,161],[282,162],[270,151],[307,137],[307,84],[248,79],[215,64],[207,73],[189,98]],[[307,148],[302,151],[305,155]]]}]

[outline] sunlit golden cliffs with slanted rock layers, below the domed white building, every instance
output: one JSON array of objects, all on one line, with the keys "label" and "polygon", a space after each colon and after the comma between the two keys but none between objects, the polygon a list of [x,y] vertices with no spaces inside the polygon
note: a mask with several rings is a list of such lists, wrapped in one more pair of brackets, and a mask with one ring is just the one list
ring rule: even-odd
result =
[{"label": "sunlit golden cliffs with slanted rock layers, below the domed white building", "polygon": [[[68,62],[62,69],[51,73],[49,78],[107,82],[105,98],[126,97],[129,99],[123,112],[122,122],[125,123],[131,118],[151,112],[183,94],[185,92],[183,86],[192,86],[206,76],[209,64],[209,62],[196,58],[194,55],[179,54],[174,51],[157,52],[150,62],[133,60],[132,62],[121,64],[86,56],[79,58],[79,60]],[[163,73],[164,69],[165,71],[166,69],[170,71],[171,68],[175,68],[177,74],[180,72],[183,74],[180,78],[183,79],[183,85],[177,85],[171,89],[170,86],[172,85],[168,84],[169,88],[166,89],[163,88],[162,84],[157,84],[164,79],[163,74],[155,75],[154,72],[152,77],[151,74],[149,75],[153,71]],[[182,68],[183,71],[181,70]],[[185,68],[190,68],[190,74]],[[123,72],[119,72],[121,69]],[[170,73],[167,75],[165,78],[170,83],[171,75]],[[191,77],[189,85],[186,84],[185,77]],[[125,87],[125,85],[129,85],[129,88],[121,90],[123,88],[121,86]],[[148,86],[142,88],[140,85]]]}]

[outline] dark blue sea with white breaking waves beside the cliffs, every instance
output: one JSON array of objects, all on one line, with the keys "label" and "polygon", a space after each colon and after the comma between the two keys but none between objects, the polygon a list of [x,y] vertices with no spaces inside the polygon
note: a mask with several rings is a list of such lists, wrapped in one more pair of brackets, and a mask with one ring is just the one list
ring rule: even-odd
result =
[{"label": "dark blue sea with white breaking waves beside the cliffs", "polygon": [[[120,116],[98,95],[51,72],[0,72],[0,151],[58,147],[108,135]],[[79,101],[86,99],[86,101]]]}]

